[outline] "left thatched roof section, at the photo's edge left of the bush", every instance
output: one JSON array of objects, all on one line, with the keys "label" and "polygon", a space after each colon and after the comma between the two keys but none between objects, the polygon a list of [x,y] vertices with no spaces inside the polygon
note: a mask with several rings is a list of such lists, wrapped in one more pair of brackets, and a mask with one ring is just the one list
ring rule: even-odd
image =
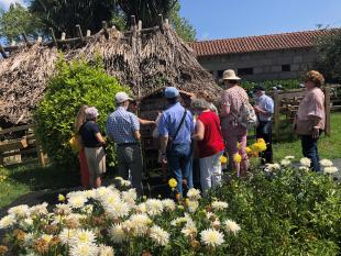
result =
[{"label": "left thatched roof section, at the photo's edge left of the bush", "polygon": [[55,47],[22,47],[0,62],[0,120],[26,123],[41,100],[53,74],[58,52]]}]

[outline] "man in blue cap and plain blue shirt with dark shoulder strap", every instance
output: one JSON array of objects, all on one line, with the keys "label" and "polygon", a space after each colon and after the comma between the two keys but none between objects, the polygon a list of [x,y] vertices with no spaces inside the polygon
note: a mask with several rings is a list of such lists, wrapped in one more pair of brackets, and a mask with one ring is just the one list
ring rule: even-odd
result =
[{"label": "man in blue cap and plain blue shirt with dark shoulder strap", "polygon": [[177,192],[183,196],[183,180],[186,180],[188,189],[194,187],[191,159],[194,118],[190,111],[178,102],[179,91],[175,87],[167,87],[165,97],[168,108],[163,112],[158,123],[162,160],[168,163],[170,176],[177,181]]}]

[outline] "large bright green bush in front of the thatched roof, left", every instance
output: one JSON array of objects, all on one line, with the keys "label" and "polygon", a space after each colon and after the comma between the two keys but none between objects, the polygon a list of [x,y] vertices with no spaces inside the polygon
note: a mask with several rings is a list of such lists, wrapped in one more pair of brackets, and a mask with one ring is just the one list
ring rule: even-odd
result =
[{"label": "large bright green bush in front of the thatched roof, left", "polygon": [[[128,88],[105,73],[100,58],[91,64],[85,60],[67,63],[61,58],[56,75],[50,80],[46,93],[34,113],[36,134],[55,164],[76,163],[76,154],[68,142],[79,108],[82,104],[95,105],[100,113],[98,123],[105,133],[108,114],[116,108],[113,98],[118,91],[129,92]],[[107,153],[111,164],[112,146],[107,147]]]}]

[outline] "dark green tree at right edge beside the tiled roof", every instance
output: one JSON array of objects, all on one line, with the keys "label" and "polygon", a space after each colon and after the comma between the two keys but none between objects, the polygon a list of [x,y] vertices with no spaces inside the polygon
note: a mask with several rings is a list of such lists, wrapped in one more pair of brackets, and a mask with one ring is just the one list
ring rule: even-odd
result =
[{"label": "dark green tree at right edge beside the tiled roof", "polygon": [[324,75],[329,82],[341,82],[341,30],[330,30],[329,35],[318,38],[317,68]]}]

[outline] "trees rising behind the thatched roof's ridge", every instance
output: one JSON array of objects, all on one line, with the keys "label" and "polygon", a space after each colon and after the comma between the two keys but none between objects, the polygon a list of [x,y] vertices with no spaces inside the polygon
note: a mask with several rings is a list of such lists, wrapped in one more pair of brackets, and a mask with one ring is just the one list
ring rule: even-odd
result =
[{"label": "trees rising behind the thatched roof's ridge", "polygon": [[131,15],[148,27],[160,23],[158,14],[169,19],[184,41],[194,41],[196,36],[195,29],[179,14],[178,0],[32,0],[28,4],[29,10],[16,3],[8,12],[0,13],[2,37],[19,40],[23,32],[32,36],[42,32],[48,35],[50,27],[54,29],[57,37],[63,32],[67,37],[75,37],[78,36],[77,24],[84,33],[86,30],[97,33],[102,27],[102,21],[109,21],[111,25],[125,31],[130,26]]}]

